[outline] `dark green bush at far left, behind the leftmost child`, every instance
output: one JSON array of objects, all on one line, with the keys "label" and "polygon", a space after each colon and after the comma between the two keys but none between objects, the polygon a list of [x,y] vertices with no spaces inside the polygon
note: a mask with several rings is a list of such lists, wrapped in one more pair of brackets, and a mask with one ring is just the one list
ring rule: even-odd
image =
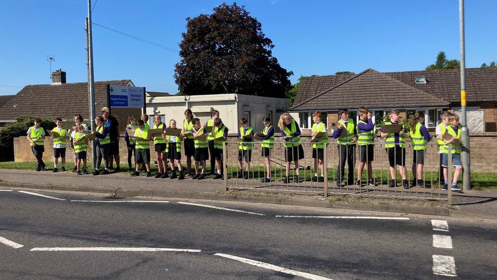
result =
[{"label": "dark green bush at far left, behind the leftmost child", "polygon": [[[16,122],[8,123],[0,130],[0,161],[14,160],[14,137],[26,136],[26,131],[33,126],[35,117],[21,116],[16,118]],[[42,119],[41,127],[47,131],[54,127],[52,119]],[[46,133],[46,132],[45,132]]]}]

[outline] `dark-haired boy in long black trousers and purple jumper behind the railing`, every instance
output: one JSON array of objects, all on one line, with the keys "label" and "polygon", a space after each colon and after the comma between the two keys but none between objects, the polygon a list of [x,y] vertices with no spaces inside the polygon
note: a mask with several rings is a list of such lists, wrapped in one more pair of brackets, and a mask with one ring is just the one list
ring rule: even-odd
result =
[{"label": "dark-haired boy in long black trousers and purple jumper behind the railing", "polygon": [[[355,165],[355,142],[357,141],[357,135],[355,135],[354,122],[349,119],[349,111],[347,109],[341,109],[338,111],[338,116],[340,120],[337,130],[333,132],[333,138],[338,139],[338,168],[337,168],[337,187],[341,188],[342,180],[345,173],[345,161],[348,163],[347,172],[347,185],[354,184],[354,165]],[[340,136],[342,129],[347,131],[347,136]]]}]

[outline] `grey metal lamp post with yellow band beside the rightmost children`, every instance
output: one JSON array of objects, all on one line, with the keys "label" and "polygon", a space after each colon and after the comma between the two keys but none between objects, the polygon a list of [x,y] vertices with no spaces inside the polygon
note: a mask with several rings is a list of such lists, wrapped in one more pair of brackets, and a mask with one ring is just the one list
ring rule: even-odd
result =
[{"label": "grey metal lamp post with yellow band beside the rightmost children", "polygon": [[[459,0],[459,40],[461,51],[461,163],[462,163],[462,189],[471,190],[470,177],[470,131],[466,123],[466,80],[465,80],[465,54],[464,54],[464,0]],[[450,182],[449,182],[450,184]]]}]

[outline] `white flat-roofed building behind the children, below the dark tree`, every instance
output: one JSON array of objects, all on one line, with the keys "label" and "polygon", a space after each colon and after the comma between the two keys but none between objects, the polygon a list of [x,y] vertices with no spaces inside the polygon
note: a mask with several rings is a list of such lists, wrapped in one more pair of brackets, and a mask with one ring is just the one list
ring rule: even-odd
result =
[{"label": "white flat-roofed building behind the children, below the dark tree", "polygon": [[[277,123],[280,114],[288,109],[289,101],[286,98],[273,98],[236,93],[228,94],[203,94],[203,95],[171,95],[147,96],[147,114],[161,116],[162,121],[169,123],[175,119],[178,126],[182,124],[184,112],[191,109],[194,117],[205,123],[212,110],[219,111],[219,117],[230,130],[236,133],[238,120],[246,118],[255,131],[263,130],[262,119],[271,118],[273,124]],[[149,120],[152,123],[152,118]],[[277,125],[274,125],[276,128]]]}]

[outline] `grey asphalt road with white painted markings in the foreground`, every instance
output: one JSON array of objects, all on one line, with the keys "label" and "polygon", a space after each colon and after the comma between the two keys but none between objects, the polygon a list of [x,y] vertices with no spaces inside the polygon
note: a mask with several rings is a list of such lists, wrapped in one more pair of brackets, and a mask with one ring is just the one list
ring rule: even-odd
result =
[{"label": "grey asphalt road with white painted markings in the foreground", "polygon": [[0,191],[0,279],[497,277],[491,221],[124,200]]}]

